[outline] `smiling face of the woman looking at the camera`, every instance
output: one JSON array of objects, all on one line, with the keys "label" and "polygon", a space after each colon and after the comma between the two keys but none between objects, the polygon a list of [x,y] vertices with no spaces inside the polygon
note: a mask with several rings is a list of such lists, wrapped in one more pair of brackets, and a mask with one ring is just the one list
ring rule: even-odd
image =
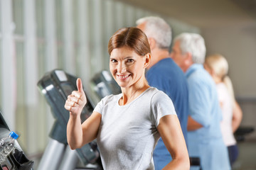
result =
[{"label": "smiling face of the woman looking at the camera", "polygon": [[129,47],[114,48],[110,54],[110,72],[122,88],[144,80],[146,56],[137,55]]}]

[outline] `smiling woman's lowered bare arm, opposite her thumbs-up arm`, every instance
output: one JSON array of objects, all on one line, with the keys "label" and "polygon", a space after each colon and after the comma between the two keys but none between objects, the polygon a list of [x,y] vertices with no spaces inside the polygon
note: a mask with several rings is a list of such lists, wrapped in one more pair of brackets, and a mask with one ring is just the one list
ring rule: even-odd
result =
[{"label": "smiling woman's lowered bare arm, opposite her thumbs-up arm", "polygon": [[188,150],[178,117],[176,115],[165,115],[160,119],[157,130],[172,157],[172,161],[164,169],[189,169]]}]

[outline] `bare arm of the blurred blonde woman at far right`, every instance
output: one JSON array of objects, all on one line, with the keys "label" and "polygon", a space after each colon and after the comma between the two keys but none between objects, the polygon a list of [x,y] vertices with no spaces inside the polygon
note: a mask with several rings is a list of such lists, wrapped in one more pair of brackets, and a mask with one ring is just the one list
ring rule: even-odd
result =
[{"label": "bare arm of the blurred blonde woman at far right", "polygon": [[240,108],[237,101],[235,101],[235,106],[233,108],[233,118],[232,118],[232,129],[233,132],[238,129],[242,121],[242,109]]}]

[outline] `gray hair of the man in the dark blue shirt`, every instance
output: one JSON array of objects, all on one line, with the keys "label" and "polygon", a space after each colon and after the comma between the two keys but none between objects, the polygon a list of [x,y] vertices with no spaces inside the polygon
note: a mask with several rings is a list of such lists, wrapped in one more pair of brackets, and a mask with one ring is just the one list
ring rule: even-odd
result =
[{"label": "gray hair of the man in the dark blue shirt", "polygon": [[154,38],[159,48],[171,46],[171,27],[164,19],[157,16],[148,16],[136,21],[137,25],[146,23],[144,33],[148,38]]}]

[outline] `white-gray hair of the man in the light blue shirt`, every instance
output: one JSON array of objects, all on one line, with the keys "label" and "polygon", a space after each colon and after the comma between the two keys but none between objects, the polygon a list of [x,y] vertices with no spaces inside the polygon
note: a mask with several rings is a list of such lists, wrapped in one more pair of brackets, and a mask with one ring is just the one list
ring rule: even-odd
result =
[{"label": "white-gray hair of the man in the light blue shirt", "polygon": [[190,52],[194,63],[203,64],[206,58],[206,45],[203,37],[196,33],[181,33],[174,42],[180,42],[181,52],[184,55]]}]

